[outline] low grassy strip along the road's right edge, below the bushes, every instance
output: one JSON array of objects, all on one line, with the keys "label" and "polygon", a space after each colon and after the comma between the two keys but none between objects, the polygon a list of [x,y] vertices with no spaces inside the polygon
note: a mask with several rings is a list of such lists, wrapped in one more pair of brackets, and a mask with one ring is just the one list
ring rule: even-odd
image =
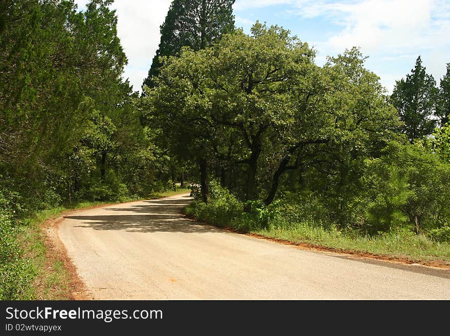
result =
[{"label": "low grassy strip along the road's right edge, below the bushes", "polygon": [[[264,223],[252,214],[243,214],[241,206],[233,198],[209,205],[192,203],[186,208],[188,217],[206,221],[219,227],[227,227],[241,233],[283,240],[295,244],[313,245],[323,249],[347,253],[372,254],[389,259],[418,263],[450,265],[450,244],[435,241],[425,235],[417,235],[406,228],[375,236],[362,236],[356,230],[340,231],[334,227],[286,223],[277,218]],[[239,210],[238,210],[239,209]]]}]

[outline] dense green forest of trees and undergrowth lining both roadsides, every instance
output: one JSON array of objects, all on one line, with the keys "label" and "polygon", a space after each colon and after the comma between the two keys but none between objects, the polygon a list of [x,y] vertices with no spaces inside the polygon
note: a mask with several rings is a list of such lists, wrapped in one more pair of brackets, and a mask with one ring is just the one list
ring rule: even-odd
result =
[{"label": "dense green forest of trees and undergrowth lining both roadsides", "polygon": [[420,56],[392,95],[358,48],[308,44],[233,0],[173,0],[142,94],[112,1],[0,4],[0,298],[28,264],[24,218],[192,183],[188,215],[240,230],[299,226],[450,242],[450,63]]}]

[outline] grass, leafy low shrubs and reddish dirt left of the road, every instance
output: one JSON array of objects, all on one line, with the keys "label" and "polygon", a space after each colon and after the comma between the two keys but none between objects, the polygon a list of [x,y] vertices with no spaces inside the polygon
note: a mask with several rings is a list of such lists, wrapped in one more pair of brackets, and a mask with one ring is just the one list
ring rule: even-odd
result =
[{"label": "grass, leafy low shrubs and reddish dirt left of the road", "polygon": [[[161,198],[187,193],[187,188],[153,193],[148,198]],[[146,198],[146,199],[148,199]],[[138,199],[123,198],[120,203]],[[2,263],[0,300],[67,300],[71,274],[60,255],[53,251],[43,232],[48,220],[66,212],[107,205],[108,201],[80,201],[76,204],[40,210],[29,217],[14,220],[3,213],[1,218]],[[118,203],[118,201],[115,201]],[[15,224],[14,224],[15,223]]]}]

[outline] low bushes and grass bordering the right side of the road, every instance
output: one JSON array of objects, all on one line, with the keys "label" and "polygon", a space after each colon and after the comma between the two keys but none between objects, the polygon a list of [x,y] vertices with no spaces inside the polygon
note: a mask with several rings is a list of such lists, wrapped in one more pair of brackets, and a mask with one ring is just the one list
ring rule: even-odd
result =
[{"label": "low bushes and grass bordering the right side of the road", "polygon": [[276,202],[270,207],[254,205],[251,212],[245,213],[243,203],[228,191],[222,189],[212,194],[209,204],[202,203],[197,194],[197,201],[186,208],[186,215],[221,228],[311,248],[450,265],[450,243],[447,236],[442,236],[448,232],[445,227],[417,234],[411,226],[403,225],[369,234],[358,227],[321,221],[317,218],[318,209],[314,209],[317,204],[305,207],[304,203]]}]

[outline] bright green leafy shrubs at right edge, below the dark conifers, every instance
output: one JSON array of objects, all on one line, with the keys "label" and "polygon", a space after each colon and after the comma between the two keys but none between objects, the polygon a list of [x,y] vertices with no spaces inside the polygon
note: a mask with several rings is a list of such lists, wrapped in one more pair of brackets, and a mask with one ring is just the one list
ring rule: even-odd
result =
[{"label": "bright green leafy shrubs at right edge, below the dark conifers", "polygon": [[408,223],[421,232],[449,218],[450,166],[417,145],[390,143],[380,159],[368,161],[363,176],[366,225],[370,232]]}]

